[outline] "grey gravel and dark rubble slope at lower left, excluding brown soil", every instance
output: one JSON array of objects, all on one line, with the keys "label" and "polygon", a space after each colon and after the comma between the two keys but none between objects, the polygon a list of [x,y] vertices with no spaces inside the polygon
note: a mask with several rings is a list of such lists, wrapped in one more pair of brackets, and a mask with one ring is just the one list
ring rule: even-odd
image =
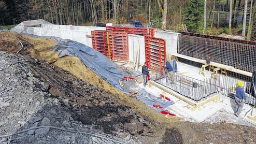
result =
[{"label": "grey gravel and dark rubble slope at lower left, excluding brown soil", "polygon": [[[138,135],[152,135],[154,131],[151,128],[154,127],[153,121],[147,121],[129,107],[111,99],[111,94],[64,70],[31,57],[27,57],[27,61],[1,51],[0,57],[1,135],[37,126],[56,126],[70,131],[103,134],[124,142],[140,143]],[[41,70],[45,70],[45,74],[41,74]],[[0,143],[10,142],[112,141],[45,127],[4,137]]]}]

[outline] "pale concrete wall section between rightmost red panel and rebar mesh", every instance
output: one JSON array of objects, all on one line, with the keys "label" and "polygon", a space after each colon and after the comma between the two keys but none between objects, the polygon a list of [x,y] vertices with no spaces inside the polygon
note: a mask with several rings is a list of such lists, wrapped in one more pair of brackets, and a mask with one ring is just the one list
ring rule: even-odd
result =
[{"label": "pale concrete wall section between rightmost red panel and rebar mesh", "polygon": [[154,32],[155,37],[165,39],[167,55],[169,55],[171,53],[177,53],[177,51],[178,51],[178,35],[179,35],[179,33],[166,32],[166,31],[161,31],[161,30],[157,30]]}]

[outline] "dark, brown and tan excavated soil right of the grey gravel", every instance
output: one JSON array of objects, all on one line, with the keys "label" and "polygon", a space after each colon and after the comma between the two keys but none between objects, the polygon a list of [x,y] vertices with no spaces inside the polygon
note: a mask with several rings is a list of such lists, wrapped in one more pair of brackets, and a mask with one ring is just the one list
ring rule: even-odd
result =
[{"label": "dark, brown and tan excavated soil right of the grey gravel", "polygon": [[[21,46],[16,44],[15,49],[6,45],[9,42],[8,35],[16,34],[0,33],[0,50],[16,53]],[[162,143],[254,143],[256,141],[256,129],[253,127],[229,123],[191,123],[178,121],[176,118],[165,118],[137,99],[115,90],[86,66],[82,66],[83,64],[76,57],[58,59],[58,54],[49,49],[56,45],[56,43],[48,45],[47,41],[52,40],[42,39],[46,46],[41,47],[45,48],[36,48],[40,38],[20,35],[16,37],[24,43],[28,41],[27,47],[36,50],[36,54],[27,49],[21,52],[34,71],[35,77],[47,84],[47,91],[53,97],[68,102],[69,106],[78,113],[76,119],[84,124],[95,124],[98,129],[112,135],[126,132],[139,137],[143,143],[161,141]],[[33,59],[27,53],[48,62]],[[99,80],[90,80],[91,77]],[[103,84],[99,84],[101,82],[107,87],[104,88]],[[109,88],[112,90],[107,90]]]}]

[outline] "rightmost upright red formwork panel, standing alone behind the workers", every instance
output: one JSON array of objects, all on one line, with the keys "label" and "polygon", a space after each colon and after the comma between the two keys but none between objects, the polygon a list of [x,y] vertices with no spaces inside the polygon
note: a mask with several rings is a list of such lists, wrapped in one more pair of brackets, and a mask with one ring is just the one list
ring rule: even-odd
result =
[{"label": "rightmost upright red formwork panel, standing alone behind the workers", "polygon": [[166,60],[165,39],[145,36],[145,55],[149,68],[163,70]]}]

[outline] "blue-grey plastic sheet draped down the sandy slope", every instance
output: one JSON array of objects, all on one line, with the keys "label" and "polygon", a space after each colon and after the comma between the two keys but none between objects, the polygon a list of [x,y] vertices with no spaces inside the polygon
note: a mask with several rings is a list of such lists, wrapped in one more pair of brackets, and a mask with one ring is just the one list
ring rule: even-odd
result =
[{"label": "blue-grey plastic sheet draped down the sandy slope", "polygon": [[58,50],[59,57],[77,56],[84,65],[92,69],[97,75],[119,90],[123,90],[119,80],[123,79],[125,73],[118,68],[118,65],[112,63],[96,50],[69,39],[60,40],[59,45],[53,47],[53,50]]}]

